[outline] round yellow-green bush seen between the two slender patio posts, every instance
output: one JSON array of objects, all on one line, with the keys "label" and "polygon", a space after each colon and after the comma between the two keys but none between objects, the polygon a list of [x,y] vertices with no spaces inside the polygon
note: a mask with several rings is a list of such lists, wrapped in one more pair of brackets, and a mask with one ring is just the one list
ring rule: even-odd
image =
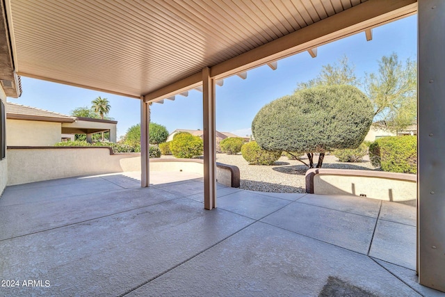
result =
[{"label": "round yellow-green bush seen between the two slender patio posts", "polygon": [[204,150],[204,143],[199,136],[190,133],[180,133],[170,141],[170,151],[177,158],[191,159],[201,156]]}]

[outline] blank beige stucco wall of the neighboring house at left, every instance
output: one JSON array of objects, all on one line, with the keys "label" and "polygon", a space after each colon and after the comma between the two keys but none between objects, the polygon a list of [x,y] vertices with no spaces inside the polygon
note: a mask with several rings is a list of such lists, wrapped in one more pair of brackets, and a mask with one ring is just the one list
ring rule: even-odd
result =
[{"label": "blank beige stucco wall of the neighboring house at left", "polygon": [[60,122],[6,120],[6,140],[10,146],[46,146],[60,142]]}]

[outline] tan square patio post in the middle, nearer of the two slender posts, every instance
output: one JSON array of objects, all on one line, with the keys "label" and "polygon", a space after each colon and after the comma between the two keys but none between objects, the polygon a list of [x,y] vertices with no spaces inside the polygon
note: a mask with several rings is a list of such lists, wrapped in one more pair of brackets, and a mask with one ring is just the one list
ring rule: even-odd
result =
[{"label": "tan square patio post in the middle, nearer of the two slender posts", "polygon": [[202,70],[202,112],[204,128],[204,208],[216,207],[215,80],[209,67]]}]

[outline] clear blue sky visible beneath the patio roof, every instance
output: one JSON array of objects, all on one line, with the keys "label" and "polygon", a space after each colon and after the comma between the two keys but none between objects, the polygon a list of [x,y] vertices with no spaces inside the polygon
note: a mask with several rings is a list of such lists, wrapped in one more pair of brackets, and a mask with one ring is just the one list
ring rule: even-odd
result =
[{"label": "clear blue sky visible beneath the patio roof", "polygon": [[[346,55],[355,65],[357,77],[377,72],[378,60],[393,52],[401,61],[416,59],[416,22],[417,16],[413,15],[373,29],[373,40],[369,42],[363,32],[358,33],[318,47],[316,58],[303,52],[278,61],[275,71],[264,65],[250,70],[245,80],[237,76],[225,79],[224,86],[216,87],[216,129],[239,136],[250,134],[252,120],[264,104],[293,93],[298,82],[313,79],[323,65],[336,63],[342,56]],[[118,138],[139,122],[138,99],[26,77],[22,77],[22,88],[22,97],[8,100],[65,114],[79,106],[91,106],[98,96],[108,98],[111,104],[108,115],[118,120]],[[202,93],[192,90],[188,97],[177,95],[175,101],[153,104],[151,114],[152,122],[164,125],[169,132],[202,129]]]}]

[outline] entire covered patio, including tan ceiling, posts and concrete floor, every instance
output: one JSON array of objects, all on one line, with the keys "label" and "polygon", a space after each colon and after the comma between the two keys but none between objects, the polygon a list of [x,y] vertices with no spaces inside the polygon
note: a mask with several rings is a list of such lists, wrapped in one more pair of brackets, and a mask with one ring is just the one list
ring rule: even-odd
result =
[{"label": "entire covered patio, including tan ceiling, posts and concrete floor", "polygon": [[[140,100],[142,136],[138,182],[112,176],[5,188],[8,156],[0,160],[2,278],[49,280],[51,287],[32,291],[45,296],[307,296],[332,287],[410,296],[427,290],[416,284],[416,270],[421,284],[445,291],[445,160],[437,157],[445,152],[444,1],[6,0],[0,6],[2,101],[19,97],[19,75],[124,95]],[[371,40],[376,26],[416,13],[417,208],[404,215],[406,206],[365,198],[218,188],[216,84],[232,75],[245,79],[260,65],[276,69],[293,54],[316,57],[318,46],[348,35]],[[149,172],[149,106],[192,89],[203,94],[204,174],[161,186],[168,177],[159,184]],[[102,191],[104,183],[113,190]],[[391,208],[402,214],[385,217]]]}]

